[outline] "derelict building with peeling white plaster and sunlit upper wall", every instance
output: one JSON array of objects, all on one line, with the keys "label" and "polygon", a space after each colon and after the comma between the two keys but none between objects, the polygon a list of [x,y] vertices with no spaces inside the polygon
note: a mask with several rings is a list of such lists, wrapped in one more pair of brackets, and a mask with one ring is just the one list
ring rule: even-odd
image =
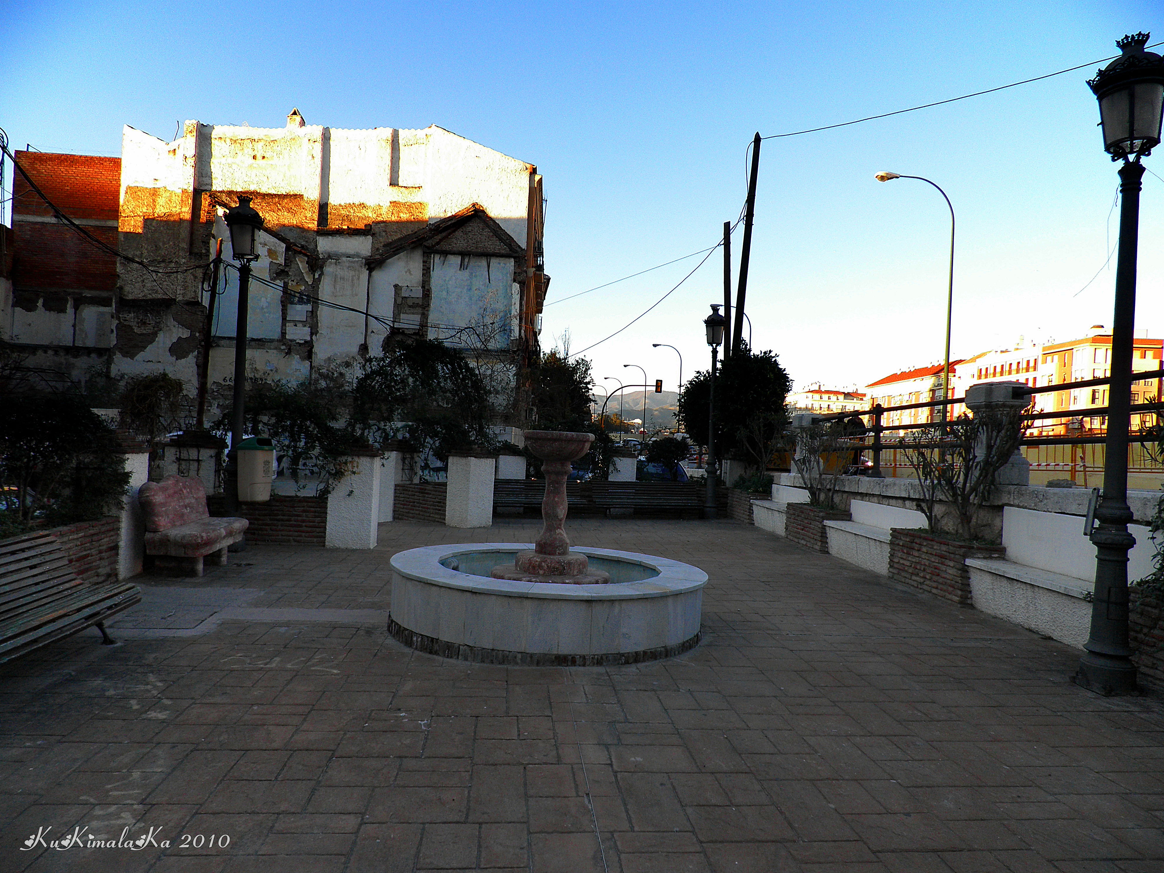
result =
[{"label": "derelict building with peeling white plaster and sunlit upper wall", "polygon": [[[115,199],[106,179],[100,215],[85,218],[115,233],[111,242],[126,256],[101,268],[112,325],[104,355],[114,377],[165,371],[191,393],[206,379],[212,403],[226,393],[237,274],[222,217],[240,196],[264,220],[248,308],[251,375],[299,381],[352,367],[393,334],[487,356],[513,385],[537,354],[548,277],[532,164],[435,126],[342,130],[307,125],[298,111],[279,128],[187,121],[171,142],[127,126],[120,161],[101,161],[118,179]],[[74,207],[47,194],[66,214]],[[76,235],[45,211],[41,227]],[[212,286],[207,265],[220,239],[226,265]],[[33,289],[13,286],[14,303],[28,311]],[[54,297],[50,305],[61,304]],[[71,310],[73,324],[86,305]],[[3,339],[51,346],[64,336],[63,326],[36,314],[8,319],[17,321]]]}]

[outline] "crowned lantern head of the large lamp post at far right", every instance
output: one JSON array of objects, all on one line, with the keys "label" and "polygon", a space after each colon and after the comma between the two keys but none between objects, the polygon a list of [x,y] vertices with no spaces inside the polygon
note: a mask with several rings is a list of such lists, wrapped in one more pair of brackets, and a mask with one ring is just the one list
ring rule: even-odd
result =
[{"label": "crowned lantern head of the large lamp post at far right", "polygon": [[1149,36],[1131,34],[1119,40],[1120,57],[1087,83],[1099,100],[1103,150],[1113,161],[1144,157],[1161,142],[1164,58],[1144,50]]}]

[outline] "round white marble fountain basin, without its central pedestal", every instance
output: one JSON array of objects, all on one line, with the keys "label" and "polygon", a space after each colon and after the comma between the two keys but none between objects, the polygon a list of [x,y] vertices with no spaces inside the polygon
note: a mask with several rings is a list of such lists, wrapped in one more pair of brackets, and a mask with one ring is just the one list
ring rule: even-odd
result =
[{"label": "round white marble fountain basin, without its central pedestal", "polygon": [[698,567],[575,547],[591,568],[610,574],[609,583],[489,577],[494,566],[512,563],[519,551],[531,547],[460,544],[393,555],[389,633],[445,658],[537,666],[638,663],[698,644],[708,581]]}]

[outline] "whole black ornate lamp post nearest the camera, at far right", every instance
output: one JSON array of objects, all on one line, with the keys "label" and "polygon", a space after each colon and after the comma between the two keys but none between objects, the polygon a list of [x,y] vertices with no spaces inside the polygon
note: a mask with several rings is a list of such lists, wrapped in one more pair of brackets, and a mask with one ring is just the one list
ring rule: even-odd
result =
[{"label": "whole black ornate lamp post nearest the camera, at far right", "polygon": [[1148,34],[1116,42],[1123,52],[1088,81],[1099,100],[1103,148],[1120,168],[1120,257],[1115,270],[1112,325],[1112,381],[1108,393],[1103,497],[1095,510],[1095,597],[1091,634],[1074,682],[1102,695],[1136,690],[1128,646],[1128,426],[1131,404],[1133,326],[1136,310],[1136,246],[1140,232],[1141,158],[1161,142],[1164,114],[1164,58],[1144,51]]}]

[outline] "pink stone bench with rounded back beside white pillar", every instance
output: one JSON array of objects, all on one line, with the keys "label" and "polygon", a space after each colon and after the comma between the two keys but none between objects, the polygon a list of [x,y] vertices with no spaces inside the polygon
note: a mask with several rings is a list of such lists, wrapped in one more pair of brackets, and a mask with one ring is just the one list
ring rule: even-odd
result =
[{"label": "pink stone bench with rounded back beside white pillar", "polygon": [[147,482],[137,492],[146,516],[146,554],[193,559],[193,575],[203,575],[203,559],[213,555],[226,566],[227,546],[242,539],[246,518],[211,518],[206,490],[194,476],[166,476]]}]

